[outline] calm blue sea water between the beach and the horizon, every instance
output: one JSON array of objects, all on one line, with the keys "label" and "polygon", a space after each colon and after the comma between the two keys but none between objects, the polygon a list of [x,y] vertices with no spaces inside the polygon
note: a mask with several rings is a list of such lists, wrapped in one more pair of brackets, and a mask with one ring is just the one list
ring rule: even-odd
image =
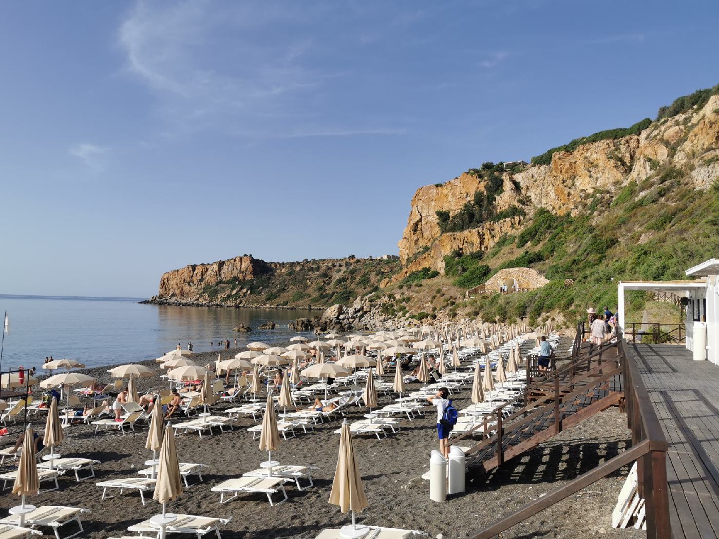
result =
[{"label": "calm blue sea water between the beach and the horizon", "polygon": [[[196,352],[216,350],[217,341],[226,338],[230,346],[234,346],[235,338],[237,346],[252,341],[286,342],[298,334],[288,329],[288,323],[312,315],[305,310],[137,303],[142,299],[0,295],[0,317],[7,310],[10,319],[2,368],[20,364],[39,368],[45,356],[78,359],[88,367],[131,363],[161,356],[178,343],[186,349],[189,341]],[[277,323],[278,327],[258,328],[267,321]],[[252,331],[232,331],[239,324]],[[303,334],[312,337],[311,333]]]}]

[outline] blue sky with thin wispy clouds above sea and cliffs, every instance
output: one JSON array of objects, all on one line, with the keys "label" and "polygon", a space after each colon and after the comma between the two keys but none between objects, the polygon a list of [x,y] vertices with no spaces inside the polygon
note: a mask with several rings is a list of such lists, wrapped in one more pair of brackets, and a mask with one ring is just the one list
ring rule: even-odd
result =
[{"label": "blue sky with thin wispy clouds above sea and cliffs", "polygon": [[719,4],[0,4],[0,293],[397,252],[411,196],[719,82]]}]

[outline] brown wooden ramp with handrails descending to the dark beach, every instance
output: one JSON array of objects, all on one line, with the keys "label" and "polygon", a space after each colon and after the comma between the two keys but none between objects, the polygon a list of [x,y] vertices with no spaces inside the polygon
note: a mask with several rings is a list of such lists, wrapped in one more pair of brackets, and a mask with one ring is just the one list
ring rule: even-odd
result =
[{"label": "brown wooden ramp with handrails descending to the dark beach", "polygon": [[[618,404],[624,395],[618,358],[615,345],[578,347],[569,364],[529,384],[521,396],[495,408],[483,423],[451,443],[484,431],[485,440],[466,452],[467,463],[484,471],[500,466],[564,428]],[[488,426],[493,421],[496,428]]]}]

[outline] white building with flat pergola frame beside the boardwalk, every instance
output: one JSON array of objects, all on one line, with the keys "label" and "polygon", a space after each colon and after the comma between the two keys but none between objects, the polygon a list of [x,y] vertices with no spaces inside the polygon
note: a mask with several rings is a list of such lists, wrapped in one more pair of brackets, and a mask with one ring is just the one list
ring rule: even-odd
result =
[{"label": "white building with flat pergola frame beside the boardwalk", "polygon": [[687,349],[694,359],[708,359],[719,365],[719,260],[710,259],[686,272],[686,281],[619,282],[619,327],[624,331],[624,291],[669,292],[687,300]]}]

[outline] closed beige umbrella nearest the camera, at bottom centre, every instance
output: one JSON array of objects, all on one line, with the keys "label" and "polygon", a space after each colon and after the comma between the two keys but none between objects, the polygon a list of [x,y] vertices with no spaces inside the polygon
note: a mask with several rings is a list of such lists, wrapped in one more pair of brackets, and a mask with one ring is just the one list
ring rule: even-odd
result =
[{"label": "closed beige umbrella nearest the camera, at bottom centre", "polygon": [[354,513],[367,507],[367,497],[365,497],[365,488],[362,487],[362,474],[359,473],[357,458],[354,456],[352,433],[349,431],[347,419],[342,422],[342,432],[339,435],[339,456],[329,493],[329,503],[339,506],[339,510],[343,513],[352,511],[352,526],[347,526],[345,533],[340,530],[340,533],[345,537],[362,537],[362,529],[366,530],[367,527],[357,525]]}]

